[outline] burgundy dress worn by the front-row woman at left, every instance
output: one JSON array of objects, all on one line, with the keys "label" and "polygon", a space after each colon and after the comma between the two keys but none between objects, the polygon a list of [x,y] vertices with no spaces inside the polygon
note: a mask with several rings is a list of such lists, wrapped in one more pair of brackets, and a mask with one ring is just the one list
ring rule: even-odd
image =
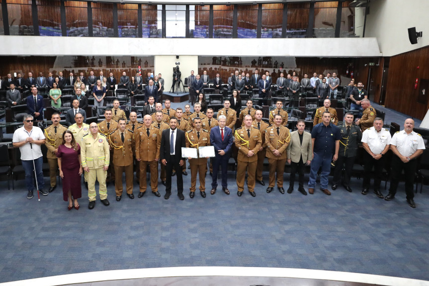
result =
[{"label": "burgundy dress worn by the front-row woman at left", "polygon": [[[78,143],[76,143],[78,144]],[[78,144],[78,150],[67,148],[64,145],[58,147],[57,157],[61,158],[61,169],[63,170],[63,199],[69,200],[69,191],[72,191],[74,199],[82,197],[81,176],[79,175],[79,156],[81,156],[81,147]]]}]

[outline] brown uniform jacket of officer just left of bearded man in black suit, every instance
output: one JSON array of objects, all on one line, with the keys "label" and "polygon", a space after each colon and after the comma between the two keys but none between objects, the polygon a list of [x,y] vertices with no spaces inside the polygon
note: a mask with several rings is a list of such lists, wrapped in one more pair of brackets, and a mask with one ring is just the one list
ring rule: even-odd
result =
[{"label": "brown uniform jacket of officer just left of bearded man in black suit", "polygon": [[134,134],[136,159],[150,162],[160,158],[161,133],[158,127],[151,125],[149,136],[145,125],[137,128]]}]

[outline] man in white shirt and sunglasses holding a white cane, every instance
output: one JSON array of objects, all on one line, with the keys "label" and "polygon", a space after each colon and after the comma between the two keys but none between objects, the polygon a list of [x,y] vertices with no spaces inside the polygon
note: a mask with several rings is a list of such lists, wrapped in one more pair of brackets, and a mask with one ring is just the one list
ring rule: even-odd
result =
[{"label": "man in white shirt and sunglasses holding a white cane", "polygon": [[33,126],[33,116],[26,114],[23,123],[24,126],[16,129],[13,133],[12,143],[13,147],[19,148],[21,152],[21,162],[28,189],[27,198],[33,197],[33,170],[36,175],[37,191],[40,191],[43,195],[48,195],[43,182],[43,155],[40,148],[42,144],[45,144],[45,135],[42,129]]}]

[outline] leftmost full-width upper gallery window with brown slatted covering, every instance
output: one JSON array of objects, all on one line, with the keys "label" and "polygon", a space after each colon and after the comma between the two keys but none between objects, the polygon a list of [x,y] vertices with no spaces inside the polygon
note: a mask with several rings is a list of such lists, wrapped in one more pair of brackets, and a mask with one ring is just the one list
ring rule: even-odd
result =
[{"label": "leftmost full-width upper gallery window with brown slatted covering", "polygon": [[12,36],[33,36],[31,0],[6,0],[9,32]]}]

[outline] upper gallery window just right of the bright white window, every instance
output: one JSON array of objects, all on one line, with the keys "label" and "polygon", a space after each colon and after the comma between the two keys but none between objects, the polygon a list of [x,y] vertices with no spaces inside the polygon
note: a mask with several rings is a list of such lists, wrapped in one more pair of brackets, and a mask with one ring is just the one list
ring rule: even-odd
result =
[{"label": "upper gallery window just right of the bright white window", "polygon": [[189,33],[191,38],[209,37],[210,5],[189,6]]}]

